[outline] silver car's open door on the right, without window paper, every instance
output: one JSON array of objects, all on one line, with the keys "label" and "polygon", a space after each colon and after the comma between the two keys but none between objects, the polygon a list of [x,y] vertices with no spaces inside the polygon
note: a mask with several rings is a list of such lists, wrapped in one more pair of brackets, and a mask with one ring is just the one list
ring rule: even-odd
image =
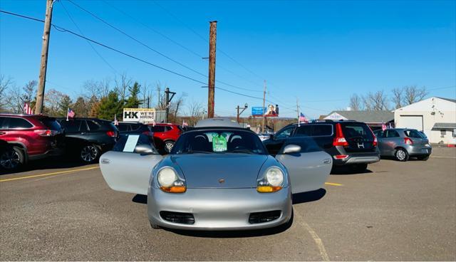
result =
[{"label": "silver car's open door on the right, without window paper", "polygon": [[321,189],[329,177],[331,155],[321,150],[311,137],[294,137],[276,155],[286,167],[293,194]]}]

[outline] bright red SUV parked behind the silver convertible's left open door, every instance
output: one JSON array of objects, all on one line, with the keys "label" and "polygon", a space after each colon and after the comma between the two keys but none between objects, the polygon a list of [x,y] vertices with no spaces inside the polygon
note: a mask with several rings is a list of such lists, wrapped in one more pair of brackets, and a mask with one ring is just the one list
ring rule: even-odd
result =
[{"label": "bright red SUV parked behind the silver convertible's left open door", "polygon": [[158,150],[169,154],[174,147],[177,138],[182,134],[183,130],[180,125],[174,124],[149,124],[150,129],[154,133],[154,142]]}]

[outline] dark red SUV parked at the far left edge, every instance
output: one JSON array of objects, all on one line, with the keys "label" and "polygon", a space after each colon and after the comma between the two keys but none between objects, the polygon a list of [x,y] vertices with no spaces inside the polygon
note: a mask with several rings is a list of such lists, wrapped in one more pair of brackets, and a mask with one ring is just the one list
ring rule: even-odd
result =
[{"label": "dark red SUV parked at the far left edge", "polygon": [[63,153],[61,126],[45,115],[0,114],[0,140],[11,146],[1,155],[1,167],[8,170]]}]

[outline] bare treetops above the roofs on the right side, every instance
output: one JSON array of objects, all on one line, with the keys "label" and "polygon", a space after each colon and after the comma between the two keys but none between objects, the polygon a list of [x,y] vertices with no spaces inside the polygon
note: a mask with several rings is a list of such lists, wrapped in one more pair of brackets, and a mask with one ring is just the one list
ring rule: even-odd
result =
[{"label": "bare treetops above the roofs on the right side", "polygon": [[353,94],[350,98],[351,110],[394,110],[423,100],[427,92],[426,88],[418,88],[416,85],[407,85],[403,88],[393,88],[390,95],[384,90],[369,92],[365,95]]}]

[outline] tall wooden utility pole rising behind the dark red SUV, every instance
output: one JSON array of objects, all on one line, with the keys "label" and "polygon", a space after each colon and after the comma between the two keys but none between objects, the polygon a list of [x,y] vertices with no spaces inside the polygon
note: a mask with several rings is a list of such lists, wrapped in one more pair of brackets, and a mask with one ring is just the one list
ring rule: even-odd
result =
[{"label": "tall wooden utility pole rising behind the dark red SUV", "polygon": [[51,36],[51,20],[53,0],[46,0],[46,18],[44,19],[43,46],[41,48],[41,65],[38,90],[36,90],[35,114],[43,112],[44,88],[46,86],[46,70],[48,69],[49,36]]}]

